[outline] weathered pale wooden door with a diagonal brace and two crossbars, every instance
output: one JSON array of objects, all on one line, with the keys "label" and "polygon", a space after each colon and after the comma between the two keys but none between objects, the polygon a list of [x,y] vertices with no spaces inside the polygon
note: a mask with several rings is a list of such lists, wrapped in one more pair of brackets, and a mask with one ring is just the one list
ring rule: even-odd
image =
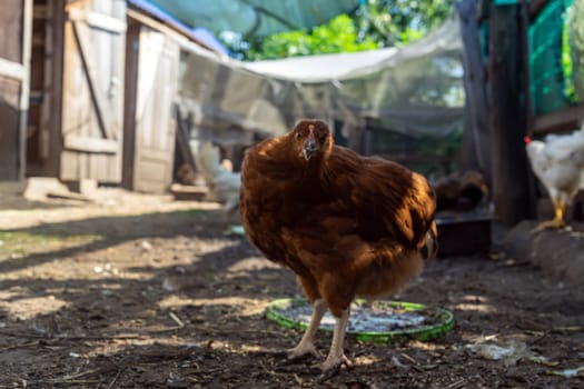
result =
[{"label": "weathered pale wooden door with a diagonal brace and two crossbars", "polygon": [[66,4],[60,179],[121,181],[125,0]]}]

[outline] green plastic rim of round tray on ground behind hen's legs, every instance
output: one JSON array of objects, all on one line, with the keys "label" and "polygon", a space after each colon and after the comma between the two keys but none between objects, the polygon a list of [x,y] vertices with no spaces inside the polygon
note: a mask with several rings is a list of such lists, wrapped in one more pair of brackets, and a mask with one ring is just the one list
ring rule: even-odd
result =
[{"label": "green plastic rim of round tray on ground behind hen's legs", "polygon": [[[357,303],[363,302],[363,300],[357,300]],[[284,328],[296,328],[305,330],[308,325],[301,321],[296,321],[290,318],[287,318],[283,310],[293,306],[305,305],[307,301],[305,299],[277,299],[271,301],[268,305],[266,316],[269,320],[273,320],[280,325]],[[415,302],[402,302],[402,301],[384,301],[392,307],[400,308],[406,311],[417,311],[428,308],[422,303]],[[454,315],[444,309],[435,308],[437,312],[438,322],[430,326],[420,326],[413,329],[395,330],[387,332],[350,332],[347,331],[347,335],[354,336],[357,340],[370,341],[376,343],[387,343],[392,341],[403,341],[409,339],[416,339],[419,341],[429,341],[439,337],[445,336],[454,329]],[[328,328],[320,328],[324,331],[331,331]]]}]

